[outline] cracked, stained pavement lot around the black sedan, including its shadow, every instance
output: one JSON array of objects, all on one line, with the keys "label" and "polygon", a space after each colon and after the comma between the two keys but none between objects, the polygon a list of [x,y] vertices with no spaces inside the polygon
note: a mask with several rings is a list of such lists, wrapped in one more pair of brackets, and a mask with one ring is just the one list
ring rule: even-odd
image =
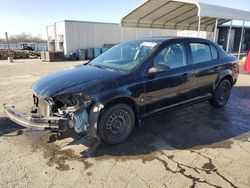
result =
[{"label": "cracked, stained pavement lot around the black sedan, including its shadow", "polygon": [[[0,103],[28,112],[35,80],[81,63],[0,61]],[[0,187],[250,187],[250,75],[225,108],[204,102],[147,119],[119,146],[49,135],[0,110]]]}]

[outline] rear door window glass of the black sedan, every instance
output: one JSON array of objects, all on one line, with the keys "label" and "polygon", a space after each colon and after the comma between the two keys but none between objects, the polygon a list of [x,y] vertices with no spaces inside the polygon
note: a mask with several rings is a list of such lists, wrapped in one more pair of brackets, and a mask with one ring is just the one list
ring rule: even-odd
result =
[{"label": "rear door window glass of the black sedan", "polygon": [[[193,63],[203,63],[212,60],[210,46],[205,43],[190,43]],[[215,49],[216,50],[216,49]]]}]

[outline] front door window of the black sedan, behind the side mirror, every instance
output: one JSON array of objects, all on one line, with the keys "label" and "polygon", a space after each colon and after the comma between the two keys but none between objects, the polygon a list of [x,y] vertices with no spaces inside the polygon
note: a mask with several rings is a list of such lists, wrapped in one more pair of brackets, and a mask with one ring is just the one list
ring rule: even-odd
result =
[{"label": "front door window of the black sedan, behind the side mirror", "polygon": [[184,44],[167,45],[155,58],[154,65],[162,64],[169,69],[175,69],[187,65]]}]

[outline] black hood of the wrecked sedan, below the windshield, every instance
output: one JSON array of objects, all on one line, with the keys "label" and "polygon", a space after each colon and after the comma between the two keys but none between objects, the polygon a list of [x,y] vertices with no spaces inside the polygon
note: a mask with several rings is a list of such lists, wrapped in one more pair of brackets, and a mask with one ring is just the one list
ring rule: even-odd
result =
[{"label": "black hood of the wrecked sedan, below the windshield", "polygon": [[80,93],[84,92],[87,86],[97,85],[105,80],[116,79],[121,74],[109,69],[81,65],[42,77],[34,83],[32,90],[36,96],[42,97]]}]

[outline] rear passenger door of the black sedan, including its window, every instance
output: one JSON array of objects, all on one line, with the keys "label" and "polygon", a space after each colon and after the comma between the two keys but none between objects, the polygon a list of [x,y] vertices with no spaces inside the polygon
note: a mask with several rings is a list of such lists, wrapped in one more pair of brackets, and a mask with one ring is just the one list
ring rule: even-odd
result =
[{"label": "rear passenger door of the black sedan, including its window", "polygon": [[188,45],[194,74],[192,98],[210,96],[219,73],[218,50],[210,43],[191,40]]}]

